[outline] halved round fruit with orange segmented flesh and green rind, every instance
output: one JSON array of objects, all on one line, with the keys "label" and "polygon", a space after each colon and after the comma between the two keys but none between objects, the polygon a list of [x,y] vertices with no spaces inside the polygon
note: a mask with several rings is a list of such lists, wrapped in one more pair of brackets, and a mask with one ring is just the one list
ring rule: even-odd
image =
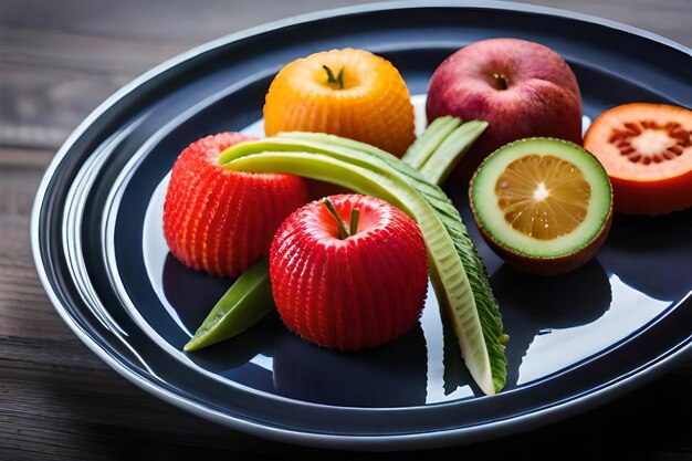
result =
[{"label": "halved round fruit with orange segmented flesh and green rind", "polygon": [[501,147],[476,170],[469,199],[481,234],[525,272],[576,269],[610,228],[608,175],[591,154],[560,139],[528,138]]}]

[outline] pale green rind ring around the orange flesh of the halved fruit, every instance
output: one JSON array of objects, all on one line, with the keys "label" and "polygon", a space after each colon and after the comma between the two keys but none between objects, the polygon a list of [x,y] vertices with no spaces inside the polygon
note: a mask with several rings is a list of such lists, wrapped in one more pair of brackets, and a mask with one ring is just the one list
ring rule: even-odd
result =
[{"label": "pale green rind ring around the orange flesh of the halved fruit", "polygon": [[[533,149],[535,154],[545,155],[551,154],[563,158],[566,161],[570,161],[573,164],[578,165],[583,171],[588,169],[590,174],[594,175],[595,179],[598,180],[599,188],[593,190],[593,200],[595,200],[595,207],[598,206],[598,200],[604,200],[604,202],[595,208],[593,211],[596,211],[598,214],[590,219],[596,219],[596,221],[590,221],[589,227],[591,229],[590,232],[586,232],[583,235],[573,234],[564,237],[564,243],[560,242],[559,245],[556,245],[555,250],[548,250],[547,244],[551,244],[549,241],[539,241],[536,243],[536,248],[541,248],[541,250],[536,250],[536,248],[527,250],[525,247],[517,245],[516,241],[508,240],[506,238],[502,238],[499,235],[497,227],[506,226],[504,221],[500,224],[495,223],[493,219],[487,217],[489,208],[487,202],[491,200],[489,192],[491,189],[494,191],[494,184],[487,185],[487,181],[492,181],[491,174],[496,172],[493,169],[494,164],[500,161],[503,156],[513,155],[516,149],[522,148],[524,150],[531,148],[532,146],[538,146],[541,148]],[[545,149],[545,147],[551,147],[551,149]],[[562,150],[560,150],[562,149]],[[565,155],[564,153],[569,153]],[[593,185],[594,186],[594,185]],[[606,224],[609,210],[612,207],[612,188],[610,186],[610,180],[608,178],[608,174],[602,165],[598,161],[598,159],[588,150],[584,149],[581,146],[578,146],[574,143],[558,139],[558,138],[548,138],[548,137],[532,137],[518,139],[513,143],[510,143],[490,156],[487,156],[471,182],[471,193],[470,200],[473,202],[475,219],[479,221],[479,226],[481,226],[492,239],[497,242],[501,247],[512,251],[515,254],[520,254],[522,256],[531,258],[531,259],[555,259],[563,258],[569,254],[576,253],[584,249],[588,243],[590,243],[600,232],[600,230]],[[483,193],[485,192],[485,193]],[[493,192],[494,193],[494,192]],[[493,196],[494,197],[494,196]],[[591,214],[591,213],[590,213]],[[593,214],[591,214],[593,216]],[[583,224],[584,226],[584,224]],[[585,228],[587,229],[587,228]],[[528,238],[524,238],[528,239]],[[538,247],[539,245],[539,247]]]}]

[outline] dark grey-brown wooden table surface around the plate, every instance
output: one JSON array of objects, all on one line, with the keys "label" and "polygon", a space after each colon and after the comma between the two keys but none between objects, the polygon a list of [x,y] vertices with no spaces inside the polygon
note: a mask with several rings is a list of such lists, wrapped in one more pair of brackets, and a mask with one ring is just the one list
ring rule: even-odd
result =
[{"label": "dark grey-brown wooden table surface around the plate", "polygon": [[[111,93],[217,36],[350,3],[0,0],[0,460],[350,457],[216,426],[118,376],[53,310],[35,274],[29,235],[31,206],[45,167],[69,133]],[[605,17],[692,46],[692,0],[534,3]],[[428,454],[692,459],[691,413],[688,363],[567,421]]]}]

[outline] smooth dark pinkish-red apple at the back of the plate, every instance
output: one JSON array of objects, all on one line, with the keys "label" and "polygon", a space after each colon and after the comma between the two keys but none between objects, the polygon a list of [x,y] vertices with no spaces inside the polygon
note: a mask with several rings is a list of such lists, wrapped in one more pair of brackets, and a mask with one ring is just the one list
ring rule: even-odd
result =
[{"label": "smooth dark pinkish-red apple at the back of the plate", "polygon": [[490,126],[461,164],[464,182],[489,154],[526,137],[581,144],[581,96],[574,73],[557,53],[518,39],[472,43],[434,71],[428,88],[428,123],[443,115]]}]

